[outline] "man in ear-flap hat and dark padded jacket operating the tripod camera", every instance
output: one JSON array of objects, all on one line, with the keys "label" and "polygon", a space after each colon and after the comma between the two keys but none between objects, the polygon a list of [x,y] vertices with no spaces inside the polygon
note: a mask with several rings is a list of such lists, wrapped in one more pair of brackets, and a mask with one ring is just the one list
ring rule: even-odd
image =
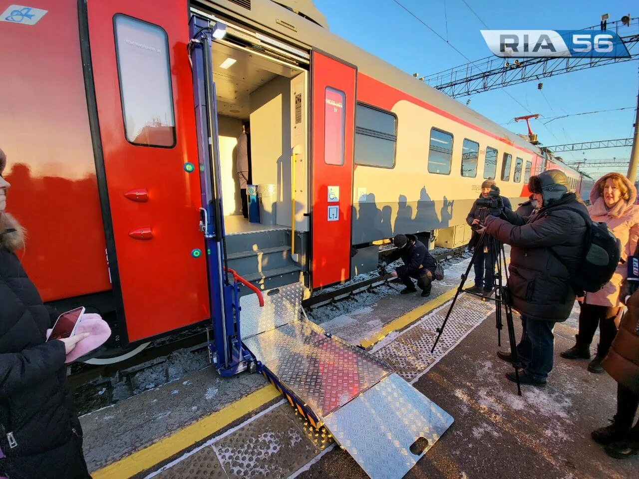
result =
[{"label": "man in ear-flap hat and dark padded jacket operating the tripod camera", "polygon": [[[486,233],[512,246],[508,291],[523,327],[517,345],[524,365],[520,381],[543,386],[553,369],[555,323],[566,321],[574,305],[569,271],[576,269],[585,246],[587,226],[578,211],[587,215],[587,209],[569,191],[566,174],[560,170],[531,176],[528,189],[539,209],[530,217],[507,209],[499,218],[489,215]],[[511,353],[497,351],[497,355],[512,362]],[[514,372],[506,376],[516,381]]]}]

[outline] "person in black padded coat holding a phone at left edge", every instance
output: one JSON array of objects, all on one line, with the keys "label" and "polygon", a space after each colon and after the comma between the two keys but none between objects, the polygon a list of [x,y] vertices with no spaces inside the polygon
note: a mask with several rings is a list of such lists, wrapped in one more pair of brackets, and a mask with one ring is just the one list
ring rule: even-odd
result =
[{"label": "person in black padded coat holding a phone at left edge", "polygon": [[65,367],[89,333],[47,342],[56,317],[15,255],[24,230],[5,211],[5,166],[0,149],[0,477],[90,478]]}]

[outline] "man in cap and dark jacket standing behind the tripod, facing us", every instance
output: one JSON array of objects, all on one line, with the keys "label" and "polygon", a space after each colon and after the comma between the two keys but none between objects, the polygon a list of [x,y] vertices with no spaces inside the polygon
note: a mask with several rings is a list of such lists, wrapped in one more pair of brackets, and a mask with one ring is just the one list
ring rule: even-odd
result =
[{"label": "man in cap and dark jacket standing behind the tripod, facing us", "polygon": [[[468,243],[468,249],[477,249],[475,262],[473,263],[473,268],[475,270],[475,285],[468,291],[471,293],[484,294],[484,296],[490,296],[490,294],[493,293],[493,287],[495,287],[495,278],[493,273],[495,273],[497,257],[495,256],[493,238],[488,235],[484,235],[484,241],[480,245],[478,243],[481,234],[478,234],[476,230],[488,216],[488,208],[483,206],[481,203],[482,200],[485,202],[485,200],[489,199],[491,188],[493,186],[495,186],[495,191],[498,191],[495,181],[491,178],[486,179],[486,181],[481,184],[481,195],[479,195],[479,198],[475,200],[472,208],[470,208],[470,211],[468,212],[468,216],[466,217],[466,223],[468,223],[468,225],[470,225],[473,229],[473,234],[470,237],[470,243]],[[504,208],[512,209],[511,202],[508,198],[503,196],[499,198],[501,199],[502,204],[504,204]],[[479,200],[479,202],[477,200]]]}]

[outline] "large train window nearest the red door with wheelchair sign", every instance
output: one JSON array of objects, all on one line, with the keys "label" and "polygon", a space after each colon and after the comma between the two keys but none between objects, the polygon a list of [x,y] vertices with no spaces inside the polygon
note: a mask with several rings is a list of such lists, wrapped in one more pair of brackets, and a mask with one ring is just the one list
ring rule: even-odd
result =
[{"label": "large train window nearest the red door with wheelchair sign", "polygon": [[395,166],[397,117],[389,112],[357,103],[355,114],[355,163],[392,168]]}]

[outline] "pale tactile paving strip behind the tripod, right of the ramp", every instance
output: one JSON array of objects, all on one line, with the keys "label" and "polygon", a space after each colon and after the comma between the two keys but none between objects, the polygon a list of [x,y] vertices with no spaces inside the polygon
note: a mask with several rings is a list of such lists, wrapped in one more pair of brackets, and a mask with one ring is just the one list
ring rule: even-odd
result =
[{"label": "pale tactile paving strip behind the tripod, right of the ramp", "polygon": [[466,334],[495,310],[493,301],[482,301],[475,296],[459,296],[450,313],[435,351],[431,347],[437,337],[437,328],[442,326],[450,304],[436,313],[421,319],[415,326],[403,331],[392,342],[375,351],[375,356],[387,361],[406,381],[411,381],[436,359],[441,358]]}]

